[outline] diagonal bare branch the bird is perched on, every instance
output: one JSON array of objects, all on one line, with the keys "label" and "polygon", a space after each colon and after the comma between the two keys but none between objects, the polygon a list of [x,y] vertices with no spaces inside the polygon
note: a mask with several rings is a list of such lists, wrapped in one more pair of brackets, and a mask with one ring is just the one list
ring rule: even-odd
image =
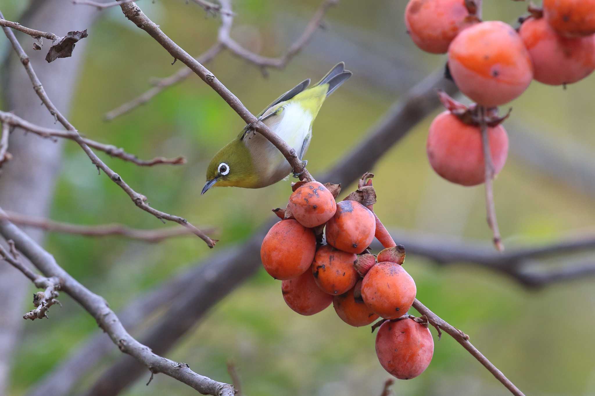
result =
[{"label": "diagonal bare branch the bird is perched on", "polygon": [[289,147],[286,141],[278,137],[278,135],[271,131],[267,125],[258,121],[258,119],[246,109],[246,106],[244,106],[243,103],[240,102],[240,100],[231,93],[231,91],[228,90],[211,71],[206,69],[205,66],[201,65],[196,59],[192,58],[192,56],[184,51],[179,45],[174,43],[170,37],[167,37],[167,35],[161,31],[161,28],[151,21],[136,4],[122,4],[120,7],[122,8],[124,15],[126,15],[126,18],[137,27],[145,30],[162,47],[164,47],[174,59],[179,59],[184,65],[188,66],[193,72],[198,74],[206,84],[213,88],[215,92],[217,92],[227,104],[229,104],[248,125],[250,125],[250,128],[259,132],[259,134],[277,147],[277,150],[283,154],[287,159],[287,162],[292,166],[293,172],[300,173],[300,180],[306,180],[308,182],[314,180],[302,161],[297,157],[296,151]]}]

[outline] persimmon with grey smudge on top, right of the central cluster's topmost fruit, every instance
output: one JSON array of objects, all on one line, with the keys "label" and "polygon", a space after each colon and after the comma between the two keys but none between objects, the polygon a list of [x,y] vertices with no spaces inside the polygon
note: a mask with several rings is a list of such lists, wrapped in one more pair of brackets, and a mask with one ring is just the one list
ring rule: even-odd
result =
[{"label": "persimmon with grey smudge on top, right of the central cluster's topmost fruit", "polygon": [[374,239],[376,219],[367,207],[356,201],[337,203],[337,211],[327,221],[327,243],[344,252],[359,254]]}]

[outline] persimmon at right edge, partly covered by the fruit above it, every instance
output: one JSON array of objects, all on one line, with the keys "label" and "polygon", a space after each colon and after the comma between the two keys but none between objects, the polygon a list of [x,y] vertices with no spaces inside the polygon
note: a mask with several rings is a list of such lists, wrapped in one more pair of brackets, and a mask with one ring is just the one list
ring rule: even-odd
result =
[{"label": "persimmon at right edge, partly covered by the fruit above it", "polygon": [[533,78],[540,83],[572,84],[595,70],[593,36],[560,36],[545,18],[528,18],[519,34],[533,61]]}]

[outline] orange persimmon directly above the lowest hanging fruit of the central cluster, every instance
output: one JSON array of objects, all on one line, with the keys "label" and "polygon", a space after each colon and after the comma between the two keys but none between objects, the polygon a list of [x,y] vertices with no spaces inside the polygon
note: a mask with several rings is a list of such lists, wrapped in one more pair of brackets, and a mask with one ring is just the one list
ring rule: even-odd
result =
[{"label": "orange persimmon directly above the lowest hanging fruit of the central cluster", "polygon": [[411,275],[394,262],[379,262],[370,268],[362,281],[362,298],[384,319],[405,315],[415,300],[417,289]]}]

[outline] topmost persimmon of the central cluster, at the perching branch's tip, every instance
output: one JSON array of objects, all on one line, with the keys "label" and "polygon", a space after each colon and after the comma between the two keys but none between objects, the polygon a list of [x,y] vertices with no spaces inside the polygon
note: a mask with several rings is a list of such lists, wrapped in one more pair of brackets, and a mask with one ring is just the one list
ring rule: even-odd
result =
[{"label": "topmost persimmon of the central cluster, at the perching branch's tip", "polygon": [[289,197],[289,205],[293,217],[308,228],[326,223],[337,211],[333,194],[318,182],[299,186]]}]

